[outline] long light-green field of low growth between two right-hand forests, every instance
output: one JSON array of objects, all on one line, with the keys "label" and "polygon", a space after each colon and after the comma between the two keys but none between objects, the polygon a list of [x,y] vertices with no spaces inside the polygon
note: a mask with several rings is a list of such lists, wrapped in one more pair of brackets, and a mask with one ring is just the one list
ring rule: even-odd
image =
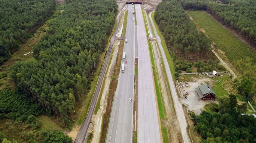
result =
[{"label": "long light-green field of low growth between two right-hand forests", "polygon": [[216,47],[219,47],[224,52],[225,56],[227,56],[240,73],[251,76],[256,75],[256,65],[254,64],[256,52],[254,50],[239,40],[233,33],[224,28],[206,12],[187,11],[187,13],[200,28],[205,30],[209,39],[216,44]]}]

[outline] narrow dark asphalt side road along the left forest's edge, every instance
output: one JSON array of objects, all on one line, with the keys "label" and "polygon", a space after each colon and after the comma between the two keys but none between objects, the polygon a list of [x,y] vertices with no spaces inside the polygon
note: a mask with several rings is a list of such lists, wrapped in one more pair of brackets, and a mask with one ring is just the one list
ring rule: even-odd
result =
[{"label": "narrow dark asphalt side road along the left forest's edge", "polygon": [[[122,11],[120,13],[122,13]],[[117,15],[117,25],[119,25],[119,22],[120,22],[120,19],[119,19],[120,13],[118,13],[118,15]],[[80,127],[78,135],[75,139],[75,143],[84,143],[84,140],[85,140],[85,137],[86,137],[86,134],[87,134],[87,130],[89,128],[89,125],[90,125],[90,122],[91,122],[91,119],[92,119],[93,111],[95,109],[95,105],[96,105],[96,101],[97,101],[97,98],[98,98],[98,95],[99,95],[99,90],[100,90],[100,87],[101,87],[101,84],[102,84],[102,81],[103,81],[103,77],[105,75],[105,71],[106,71],[106,68],[107,68],[107,64],[108,64],[108,60],[109,60],[109,57],[110,57],[110,54],[111,54],[111,50],[112,50],[112,47],[113,47],[113,44],[114,44],[114,39],[115,39],[115,36],[117,34],[117,30],[118,30],[118,26],[115,27],[114,34],[111,37],[107,57],[106,57],[105,62],[103,64],[102,71],[101,71],[101,74],[100,74],[99,81],[98,81],[98,84],[96,86],[95,92],[93,94],[93,99],[92,99],[89,111],[87,113],[87,116],[84,119],[84,122],[82,123],[82,125]]]}]

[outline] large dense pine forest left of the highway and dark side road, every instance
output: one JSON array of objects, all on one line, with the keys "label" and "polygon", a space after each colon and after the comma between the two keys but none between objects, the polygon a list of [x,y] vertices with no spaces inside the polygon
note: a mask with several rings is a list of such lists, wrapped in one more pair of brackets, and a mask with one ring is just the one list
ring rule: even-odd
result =
[{"label": "large dense pine forest left of the highway and dark side road", "polygon": [[77,101],[90,90],[99,54],[115,24],[116,1],[66,1],[65,11],[34,48],[34,59],[17,62],[9,75],[46,114],[66,126]]}]

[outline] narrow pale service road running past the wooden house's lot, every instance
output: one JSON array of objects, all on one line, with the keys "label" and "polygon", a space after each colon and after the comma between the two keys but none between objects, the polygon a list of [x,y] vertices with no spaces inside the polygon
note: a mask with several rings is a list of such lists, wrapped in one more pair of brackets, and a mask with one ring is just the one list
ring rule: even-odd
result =
[{"label": "narrow pale service road running past the wooden house's lot", "polygon": [[[149,18],[150,18],[151,23],[153,23],[151,13],[149,14]],[[173,103],[174,103],[174,107],[175,107],[175,111],[176,111],[176,116],[177,116],[177,119],[178,119],[180,127],[181,127],[182,139],[183,139],[184,143],[190,143],[190,139],[188,137],[187,130],[186,130],[187,129],[186,117],[185,117],[185,114],[184,114],[184,110],[181,106],[181,103],[178,101],[178,95],[177,95],[177,92],[175,90],[175,85],[174,85],[174,81],[172,79],[172,74],[171,74],[171,71],[170,71],[169,64],[167,62],[165,53],[163,51],[163,47],[162,47],[162,44],[161,44],[161,38],[157,35],[157,30],[156,30],[156,27],[154,26],[154,24],[153,24],[152,27],[154,29],[154,33],[156,34],[157,43],[158,43],[159,49],[160,49],[162,57],[163,57],[163,62],[164,62],[168,82],[169,82],[169,85],[170,85],[170,88],[171,88],[170,90],[171,90],[171,93],[172,93],[172,99],[173,99]]]}]

